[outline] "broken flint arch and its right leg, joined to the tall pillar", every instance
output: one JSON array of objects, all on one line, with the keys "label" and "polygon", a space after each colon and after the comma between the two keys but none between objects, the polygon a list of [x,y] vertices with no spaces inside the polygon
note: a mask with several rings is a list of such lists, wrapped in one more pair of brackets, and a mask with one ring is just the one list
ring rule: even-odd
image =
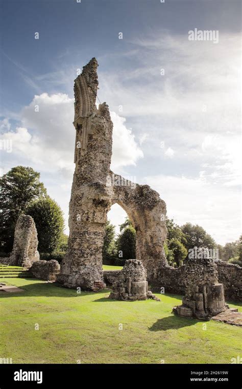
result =
[{"label": "broken flint arch and its right leg, joined to the tall pillar", "polygon": [[142,262],[151,281],[157,277],[161,267],[168,265],[163,248],[166,238],[165,202],[150,186],[135,184],[112,171],[107,183],[112,188],[111,205],[120,205],[136,230],[136,259]]}]

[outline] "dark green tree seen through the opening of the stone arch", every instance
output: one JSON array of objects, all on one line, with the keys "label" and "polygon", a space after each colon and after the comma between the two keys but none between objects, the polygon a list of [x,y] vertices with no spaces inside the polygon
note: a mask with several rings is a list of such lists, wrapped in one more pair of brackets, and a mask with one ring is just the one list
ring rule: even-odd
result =
[{"label": "dark green tree seen through the opening of the stone arch", "polygon": [[[123,225],[126,224],[125,227]],[[126,220],[123,225],[120,225],[120,234],[117,237],[116,247],[120,258],[123,260],[131,260],[136,257],[136,231],[132,226],[130,220]]]}]

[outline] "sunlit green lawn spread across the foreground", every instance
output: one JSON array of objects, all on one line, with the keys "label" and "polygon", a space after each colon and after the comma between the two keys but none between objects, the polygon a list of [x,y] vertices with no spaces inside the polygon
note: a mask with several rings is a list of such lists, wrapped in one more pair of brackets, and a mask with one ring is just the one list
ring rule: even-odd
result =
[{"label": "sunlit green lawn spread across the foreground", "polygon": [[116,301],[109,290],[78,294],[33,278],[7,282],[25,289],[0,293],[0,356],[13,363],[230,363],[241,355],[239,327],[171,314],[180,296]]}]

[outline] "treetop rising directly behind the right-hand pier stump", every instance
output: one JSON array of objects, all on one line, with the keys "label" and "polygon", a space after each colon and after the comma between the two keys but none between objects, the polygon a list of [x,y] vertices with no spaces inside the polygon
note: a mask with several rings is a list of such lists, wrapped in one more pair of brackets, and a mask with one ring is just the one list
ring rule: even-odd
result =
[{"label": "treetop rising directly behind the right-hand pier stump", "polygon": [[212,237],[198,224],[194,226],[191,223],[186,223],[181,227],[181,230],[185,235],[184,246],[187,250],[194,247],[208,247],[209,249],[216,247]]}]

